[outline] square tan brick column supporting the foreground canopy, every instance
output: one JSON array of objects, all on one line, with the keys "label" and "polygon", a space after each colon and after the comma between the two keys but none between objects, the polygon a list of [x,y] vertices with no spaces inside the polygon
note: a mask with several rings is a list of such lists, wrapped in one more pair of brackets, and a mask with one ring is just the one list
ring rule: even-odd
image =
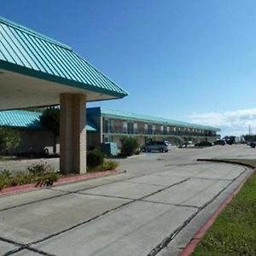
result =
[{"label": "square tan brick column supporting the foreground canopy", "polygon": [[86,96],[61,94],[60,170],[86,172]]}]

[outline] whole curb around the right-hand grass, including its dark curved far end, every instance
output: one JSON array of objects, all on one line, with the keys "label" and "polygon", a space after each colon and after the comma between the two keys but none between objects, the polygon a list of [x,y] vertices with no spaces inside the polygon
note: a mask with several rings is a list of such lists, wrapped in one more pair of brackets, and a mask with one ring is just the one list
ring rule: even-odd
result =
[{"label": "whole curb around the right-hand grass, including its dark curved far end", "polygon": [[[228,164],[236,164],[240,166],[247,166],[249,168],[254,169],[254,166],[248,165],[248,164],[242,164],[240,162],[232,161],[232,160],[209,160],[209,159],[198,159],[198,161],[212,161],[212,162],[220,162],[220,163],[228,163]],[[252,172],[253,173],[253,172]],[[231,194],[224,200],[224,202],[218,207],[218,209],[213,212],[212,216],[208,218],[207,222],[203,224],[195,233],[195,236],[189,241],[189,243],[184,247],[183,252],[180,254],[181,256],[189,256],[191,253],[194,252],[195,247],[197,246],[198,242],[201,241],[201,238],[207,233],[207,230],[209,230],[214,223],[215,219],[218,218],[218,215],[224,210],[225,207],[227,207],[230,204],[230,201],[235,197],[235,195],[240,191],[244,183],[246,183],[248,177],[252,175],[252,173],[247,174],[247,177],[244,178],[244,180],[236,186],[236,189],[234,189]]]}]

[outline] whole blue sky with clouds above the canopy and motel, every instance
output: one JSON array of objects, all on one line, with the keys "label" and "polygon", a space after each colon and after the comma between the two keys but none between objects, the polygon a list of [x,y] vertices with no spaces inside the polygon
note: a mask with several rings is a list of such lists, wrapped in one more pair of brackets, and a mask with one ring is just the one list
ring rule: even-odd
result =
[{"label": "whole blue sky with clouds above the canopy and motel", "polygon": [[130,93],[91,107],[256,132],[254,0],[1,0],[0,15],[72,46]]}]

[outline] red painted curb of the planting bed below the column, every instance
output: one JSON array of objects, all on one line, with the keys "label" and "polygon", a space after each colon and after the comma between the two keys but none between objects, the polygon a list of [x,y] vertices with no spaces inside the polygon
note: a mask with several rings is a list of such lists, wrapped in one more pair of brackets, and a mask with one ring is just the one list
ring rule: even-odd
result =
[{"label": "red painted curb of the planting bed below the column", "polygon": [[[117,172],[116,170],[109,170],[105,172],[84,173],[84,174],[70,176],[70,177],[61,177],[56,183],[54,183],[54,186],[62,185],[65,183],[83,181],[83,180],[96,178],[96,177],[106,177],[106,176],[117,174],[117,173],[119,172]],[[44,189],[44,188],[47,188],[47,186],[40,187],[40,186],[37,186],[37,183],[28,183],[20,186],[14,186],[14,187],[2,189],[0,191],[0,196],[14,194],[18,192],[27,192],[34,189]]]}]

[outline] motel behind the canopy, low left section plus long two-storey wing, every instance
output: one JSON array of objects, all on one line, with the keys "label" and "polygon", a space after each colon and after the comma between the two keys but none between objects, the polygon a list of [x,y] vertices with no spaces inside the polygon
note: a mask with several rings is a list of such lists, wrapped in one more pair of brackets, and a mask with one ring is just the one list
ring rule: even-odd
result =
[{"label": "motel behind the canopy, low left section plus long two-storey wing", "polygon": [[[0,126],[19,131],[21,143],[11,154],[42,154],[53,152],[54,135],[45,131],[40,124],[42,113],[26,110],[0,111]],[[142,146],[150,141],[169,141],[172,145],[215,141],[218,128],[195,125],[130,113],[108,108],[86,109],[87,148],[101,148],[102,143],[117,143],[121,148],[122,137],[135,137]],[[57,153],[60,152],[60,138],[57,138]]]}]

